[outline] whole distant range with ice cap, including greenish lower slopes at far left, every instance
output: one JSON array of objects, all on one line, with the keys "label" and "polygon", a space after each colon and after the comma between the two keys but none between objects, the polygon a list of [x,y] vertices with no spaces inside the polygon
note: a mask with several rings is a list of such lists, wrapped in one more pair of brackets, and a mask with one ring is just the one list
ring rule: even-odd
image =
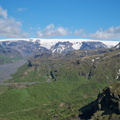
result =
[{"label": "whole distant range with ice cap, including greenish lower slopes at far left", "polygon": [[[105,44],[106,45],[105,45]],[[108,44],[109,43],[109,44]],[[0,40],[0,64],[17,59],[31,58],[42,53],[68,53],[75,50],[102,49],[111,45],[111,41],[80,39],[7,39]],[[113,41],[113,45],[118,42]],[[108,46],[107,46],[108,44]],[[119,46],[116,46],[119,47]],[[8,60],[7,60],[8,59]],[[7,60],[7,61],[6,61]]]}]

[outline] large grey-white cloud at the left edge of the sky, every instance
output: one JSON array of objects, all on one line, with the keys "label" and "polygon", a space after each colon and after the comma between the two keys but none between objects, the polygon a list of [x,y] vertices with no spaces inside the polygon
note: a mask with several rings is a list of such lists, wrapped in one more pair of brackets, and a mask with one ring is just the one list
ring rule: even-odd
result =
[{"label": "large grey-white cloud at the left edge of the sky", "polygon": [[22,23],[8,17],[7,10],[0,7],[0,37],[27,37],[21,29]]}]

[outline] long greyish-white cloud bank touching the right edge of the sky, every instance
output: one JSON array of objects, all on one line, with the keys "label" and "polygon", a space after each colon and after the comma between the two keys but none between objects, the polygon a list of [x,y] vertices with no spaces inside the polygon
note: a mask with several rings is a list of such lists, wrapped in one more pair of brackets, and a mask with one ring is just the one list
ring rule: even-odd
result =
[{"label": "long greyish-white cloud bank touching the right edge of the sky", "polygon": [[94,39],[120,39],[120,26],[110,27],[107,30],[99,29],[90,34],[90,37]]}]

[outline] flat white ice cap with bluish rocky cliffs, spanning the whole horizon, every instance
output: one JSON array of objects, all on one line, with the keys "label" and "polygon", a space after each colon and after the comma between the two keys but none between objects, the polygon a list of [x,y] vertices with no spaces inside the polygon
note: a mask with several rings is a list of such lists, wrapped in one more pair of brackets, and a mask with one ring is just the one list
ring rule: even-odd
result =
[{"label": "flat white ice cap with bluish rocky cliffs, spanning the whole horizon", "polygon": [[67,53],[80,49],[109,48],[117,45],[119,41],[98,41],[90,39],[3,39],[0,47],[14,49],[23,56],[33,52]]}]

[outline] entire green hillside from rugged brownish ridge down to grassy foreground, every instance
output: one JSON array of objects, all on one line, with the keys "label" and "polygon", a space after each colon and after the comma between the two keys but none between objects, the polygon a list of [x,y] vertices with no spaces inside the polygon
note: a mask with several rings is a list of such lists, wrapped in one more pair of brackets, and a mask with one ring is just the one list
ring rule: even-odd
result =
[{"label": "entire green hillside from rugged brownish ridge down to grassy foreground", "polygon": [[20,67],[6,81],[12,84],[0,89],[0,119],[77,120],[79,109],[95,101],[105,86],[120,80],[120,50],[80,54],[46,53]]}]

